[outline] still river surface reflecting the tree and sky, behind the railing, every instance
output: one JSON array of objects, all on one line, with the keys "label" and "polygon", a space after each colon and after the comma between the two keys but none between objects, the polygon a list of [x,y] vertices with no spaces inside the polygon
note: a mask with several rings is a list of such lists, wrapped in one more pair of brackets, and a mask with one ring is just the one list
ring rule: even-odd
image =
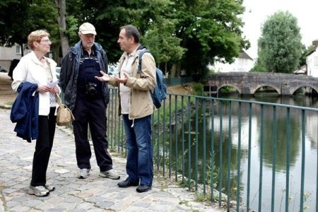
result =
[{"label": "still river surface reflecting the tree and sky, behind the railing", "polygon": [[[230,97],[233,98],[233,97]],[[278,98],[269,96],[260,96],[258,98],[245,98],[245,100],[253,100],[260,102],[273,102],[284,105],[297,105],[305,107],[317,107],[317,98],[295,97],[295,98]],[[199,173],[202,173],[204,167],[211,158],[204,158],[206,155],[213,155],[214,164],[224,176],[222,179],[223,187],[230,180],[232,188],[231,198],[235,199],[235,187],[237,187],[237,176],[240,175],[240,199],[247,202],[247,179],[248,179],[248,153],[250,150],[250,206],[258,208],[259,202],[262,211],[271,210],[271,193],[273,192],[273,170],[276,171],[275,179],[275,211],[285,211],[285,185],[286,185],[286,168],[290,169],[290,197],[293,197],[293,203],[290,203],[290,209],[298,211],[300,206],[300,181],[301,181],[301,153],[302,153],[302,119],[300,110],[290,110],[290,125],[286,125],[286,117],[288,111],[286,108],[264,106],[264,119],[261,119],[260,105],[252,105],[249,111],[249,105],[232,102],[229,107],[228,102],[223,102],[222,107],[219,104],[212,103],[208,107],[213,107],[213,114],[208,115],[206,120],[199,119],[199,126],[203,126],[206,122],[206,129],[199,127],[197,135],[191,134],[185,136],[187,139],[172,143],[172,149],[177,149],[179,158],[184,155],[185,164],[187,158],[197,158],[191,161],[191,167],[196,167]],[[211,108],[210,108],[211,110]],[[249,112],[251,116],[249,119]],[[199,112],[201,114],[201,111]],[[261,125],[261,123],[264,123]],[[249,125],[250,124],[250,125]],[[249,131],[249,126],[251,129]],[[264,133],[261,134],[261,126],[264,127]],[[181,126],[178,126],[181,129]],[[192,120],[191,128],[195,129],[195,119]],[[184,126],[187,129],[187,126]],[[317,187],[317,129],[318,119],[317,112],[307,112],[305,116],[305,193],[310,194],[305,199],[305,205],[310,207],[310,211],[316,206],[316,187]],[[191,130],[189,130],[191,131]],[[182,131],[178,131],[178,138],[182,138]],[[289,132],[289,134],[288,134]],[[249,136],[250,134],[250,136]],[[184,136],[184,135],[183,135]],[[222,139],[220,139],[222,138]],[[199,142],[195,142],[197,141]],[[204,146],[202,141],[206,139]],[[184,142],[184,143],[183,143]],[[196,145],[194,145],[196,143]],[[230,148],[228,145],[230,143]],[[261,143],[263,144],[261,155]],[[180,151],[177,146],[191,146],[189,151]],[[239,148],[240,147],[240,148]],[[276,148],[273,148],[276,147]],[[275,151],[273,151],[273,149]],[[212,153],[213,151],[213,153]],[[289,152],[288,152],[289,151]],[[190,154],[190,155],[189,155]],[[240,157],[239,157],[240,155]],[[287,158],[289,156],[289,163]],[[263,160],[261,161],[261,158]],[[229,161],[230,159],[230,161]],[[177,161],[178,159],[175,158]],[[206,160],[206,161],[204,161]],[[238,164],[240,163],[240,167]],[[262,166],[262,179],[259,177]],[[274,165],[275,164],[275,165]],[[210,164],[211,166],[211,164]],[[186,175],[187,169],[185,167]],[[228,176],[230,169],[230,176]],[[239,170],[239,173],[237,173]],[[192,170],[194,175],[194,170]],[[187,176],[189,177],[189,176]],[[193,178],[193,176],[190,176]],[[199,175],[199,182],[204,182],[204,176]],[[262,180],[262,181],[261,181]],[[259,188],[262,183],[261,190]],[[220,182],[218,182],[220,184]],[[223,189],[224,192],[224,189]],[[259,200],[259,192],[262,192],[262,198]]]}]

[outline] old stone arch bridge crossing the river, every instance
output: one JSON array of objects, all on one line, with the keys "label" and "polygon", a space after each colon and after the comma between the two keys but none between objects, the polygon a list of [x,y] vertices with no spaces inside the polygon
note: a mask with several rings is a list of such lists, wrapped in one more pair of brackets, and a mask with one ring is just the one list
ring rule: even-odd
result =
[{"label": "old stone arch bridge crossing the river", "polygon": [[254,95],[259,88],[268,86],[278,95],[293,95],[299,88],[306,88],[307,93],[318,93],[318,78],[293,73],[214,73],[208,76],[204,86],[206,91],[216,93],[224,86],[232,86],[240,95]]}]

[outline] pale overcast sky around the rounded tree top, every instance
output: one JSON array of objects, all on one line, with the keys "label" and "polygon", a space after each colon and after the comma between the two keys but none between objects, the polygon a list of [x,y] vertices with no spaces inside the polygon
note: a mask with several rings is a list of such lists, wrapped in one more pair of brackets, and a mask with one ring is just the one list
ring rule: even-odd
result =
[{"label": "pale overcast sky around the rounded tree top", "polygon": [[288,11],[298,19],[302,44],[306,47],[318,39],[318,0],[244,0],[245,14],[243,33],[251,42],[247,54],[257,58],[257,40],[261,25],[276,11]]}]

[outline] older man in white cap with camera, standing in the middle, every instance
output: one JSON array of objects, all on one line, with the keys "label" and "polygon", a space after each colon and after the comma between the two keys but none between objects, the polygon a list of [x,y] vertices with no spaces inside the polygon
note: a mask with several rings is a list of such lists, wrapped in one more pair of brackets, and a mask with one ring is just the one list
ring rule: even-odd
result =
[{"label": "older man in white cap with camera, standing in the middle", "polygon": [[76,160],[80,169],[78,178],[85,179],[90,173],[91,150],[88,141],[88,125],[93,141],[100,176],[119,179],[112,169],[106,136],[106,108],[110,100],[107,83],[95,79],[100,71],[107,71],[107,55],[95,42],[95,27],[83,23],[78,35],[81,40],[69,49],[61,64],[59,86],[64,100],[75,117],[73,133],[76,144]]}]

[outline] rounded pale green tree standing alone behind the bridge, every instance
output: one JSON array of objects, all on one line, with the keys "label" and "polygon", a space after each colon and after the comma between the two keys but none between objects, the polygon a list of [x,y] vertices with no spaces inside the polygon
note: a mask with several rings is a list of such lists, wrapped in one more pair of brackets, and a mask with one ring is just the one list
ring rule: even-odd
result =
[{"label": "rounded pale green tree standing alone behind the bridge", "polygon": [[298,20],[288,11],[270,16],[261,29],[258,59],[267,71],[291,73],[298,68],[302,43]]}]

